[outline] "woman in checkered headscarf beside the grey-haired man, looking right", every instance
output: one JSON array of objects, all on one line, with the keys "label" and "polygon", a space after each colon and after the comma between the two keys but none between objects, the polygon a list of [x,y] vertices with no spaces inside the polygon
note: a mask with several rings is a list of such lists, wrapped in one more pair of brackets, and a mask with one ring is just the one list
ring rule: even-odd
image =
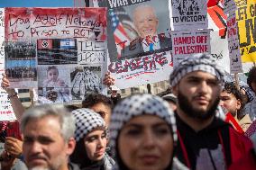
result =
[{"label": "woman in checkered headscarf beside the grey-haired man, looking right", "polygon": [[105,152],[107,133],[103,118],[85,108],[75,110],[72,114],[76,119],[77,146],[70,161],[78,164],[81,170],[111,170],[114,160]]}]

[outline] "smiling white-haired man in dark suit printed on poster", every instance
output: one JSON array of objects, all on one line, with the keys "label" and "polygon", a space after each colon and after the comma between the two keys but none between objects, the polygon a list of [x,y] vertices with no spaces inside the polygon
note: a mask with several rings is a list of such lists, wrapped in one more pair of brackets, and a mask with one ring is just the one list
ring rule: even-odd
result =
[{"label": "smiling white-haired man in dark suit printed on poster", "polygon": [[139,38],[133,40],[121,51],[124,58],[137,58],[151,54],[157,49],[171,49],[171,38],[157,34],[159,20],[155,10],[150,5],[140,5],[133,11],[133,23]]}]

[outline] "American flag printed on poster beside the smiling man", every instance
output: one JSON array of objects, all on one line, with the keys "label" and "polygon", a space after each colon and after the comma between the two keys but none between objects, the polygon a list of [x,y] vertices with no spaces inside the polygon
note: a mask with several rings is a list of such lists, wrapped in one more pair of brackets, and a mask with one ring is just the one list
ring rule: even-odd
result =
[{"label": "American flag printed on poster beside the smiling man", "polygon": [[117,55],[118,55],[117,57],[120,58],[121,50],[123,49],[122,42],[125,42],[125,44],[130,44],[130,40],[129,40],[126,32],[124,31],[122,22],[119,21],[119,18],[114,13],[113,9],[109,10],[109,15],[110,15],[111,21],[112,21],[112,28],[113,28],[113,32],[114,32],[114,41],[116,44]]}]

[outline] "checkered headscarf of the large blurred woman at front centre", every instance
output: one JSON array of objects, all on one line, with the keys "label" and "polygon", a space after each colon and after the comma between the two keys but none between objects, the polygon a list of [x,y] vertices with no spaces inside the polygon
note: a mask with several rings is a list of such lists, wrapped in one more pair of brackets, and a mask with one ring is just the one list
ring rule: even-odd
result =
[{"label": "checkered headscarf of the large blurred woman at front centre", "polygon": [[173,111],[169,103],[159,96],[151,94],[135,94],[129,96],[114,107],[110,123],[110,144],[115,148],[115,142],[123,125],[140,115],[155,115],[166,121],[173,132],[174,143],[177,141],[177,127]]}]

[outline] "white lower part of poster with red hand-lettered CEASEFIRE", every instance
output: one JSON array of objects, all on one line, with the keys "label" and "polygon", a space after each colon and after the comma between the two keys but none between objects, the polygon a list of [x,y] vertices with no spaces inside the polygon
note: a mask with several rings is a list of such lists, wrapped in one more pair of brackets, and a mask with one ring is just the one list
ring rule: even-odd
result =
[{"label": "white lower part of poster with red hand-lettered CEASEFIRE", "polygon": [[108,70],[119,88],[167,80],[173,67],[170,51],[109,63]]}]

